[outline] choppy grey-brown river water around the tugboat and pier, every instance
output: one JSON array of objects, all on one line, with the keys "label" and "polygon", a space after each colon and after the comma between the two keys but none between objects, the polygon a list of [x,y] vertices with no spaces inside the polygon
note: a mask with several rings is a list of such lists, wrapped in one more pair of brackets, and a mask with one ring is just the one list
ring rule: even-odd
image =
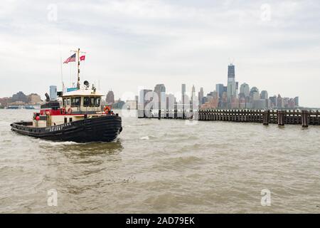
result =
[{"label": "choppy grey-brown river water around the tugboat and pier", "polygon": [[117,142],[78,144],[11,132],[32,113],[0,110],[0,212],[320,212],[320,127],[123,118]]}]

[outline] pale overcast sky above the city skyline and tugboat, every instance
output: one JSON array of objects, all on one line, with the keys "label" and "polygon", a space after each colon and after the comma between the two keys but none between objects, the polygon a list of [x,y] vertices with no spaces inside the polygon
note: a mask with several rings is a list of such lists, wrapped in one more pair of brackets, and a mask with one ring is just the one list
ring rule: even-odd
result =
[{"label": "pale overcast sky above the city skyline and tugboat", "polygon": [[156,83],[209,93],[233,62],[240,84],[320,107],[319,12],[318,0],[1,0],[0,97],[61,87],[60,56],[79,47],[82,80],[124,100]]}]

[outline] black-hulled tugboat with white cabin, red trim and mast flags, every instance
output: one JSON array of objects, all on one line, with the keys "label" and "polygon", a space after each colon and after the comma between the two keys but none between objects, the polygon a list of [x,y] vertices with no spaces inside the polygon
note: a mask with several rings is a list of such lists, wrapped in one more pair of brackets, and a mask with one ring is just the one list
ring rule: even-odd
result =
[{"label": "black-hulled tugboat with white cabin, red trim and mast flags", "polygon": [[77,88],[57,93],[62,105],[58,100],[50,100],[46,93],[46,104],[41,105],[39,113],[33,113],[33,120],[11,123],[11,130],[54,141],[110,142],[117,138],[122,131],[122,119],[109,105],[102,108],[102,94],[95,86],[90,88],[84,81],[80,88],[80,49],[75,52],[78,53]]}]

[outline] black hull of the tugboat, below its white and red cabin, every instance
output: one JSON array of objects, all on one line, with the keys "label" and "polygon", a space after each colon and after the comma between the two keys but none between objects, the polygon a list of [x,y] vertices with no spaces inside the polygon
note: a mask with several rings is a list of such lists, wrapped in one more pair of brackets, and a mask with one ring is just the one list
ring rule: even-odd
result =
[{"label": "black hull of the tugboat, below its white and red cabin", "polygon": [[48,128],[33,128],[32,122],[17,122],[11,124],[11,130],[53,141],[111,142],[121,133],[122,120],[117,115],[105,115]]}]

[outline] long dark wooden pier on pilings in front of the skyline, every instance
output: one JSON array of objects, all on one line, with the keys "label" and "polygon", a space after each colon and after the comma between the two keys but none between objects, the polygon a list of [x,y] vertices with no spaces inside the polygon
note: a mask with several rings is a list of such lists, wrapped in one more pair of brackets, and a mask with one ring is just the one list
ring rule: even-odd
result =
[{"label": "long dark wooden pier on pilings in front of the skyline", "polygon": [[243,123],[270,123],[283,125],[302,125],[306,128],[309,125],[320,125],[319,110],[150,110],[142,113],[138,118],[157,119],[180,119],[180,120],[200,120],[200,121],[231,121]]}]

